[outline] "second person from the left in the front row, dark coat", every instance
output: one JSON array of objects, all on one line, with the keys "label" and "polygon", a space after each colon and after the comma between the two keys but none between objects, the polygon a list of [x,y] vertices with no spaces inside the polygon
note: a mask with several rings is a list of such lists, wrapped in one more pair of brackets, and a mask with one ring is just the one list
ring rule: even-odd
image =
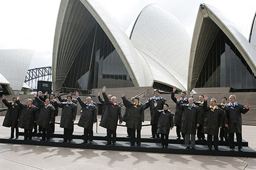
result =
[{"label": "second person from the left in the front row, dark coat", "polygon": [[38,107],[33,105],[32,99],[28,99],[27,104],[21,104],[18,100],[17,104],[20,107],[18,127],[24,129],[24,140],[31,140]]}]

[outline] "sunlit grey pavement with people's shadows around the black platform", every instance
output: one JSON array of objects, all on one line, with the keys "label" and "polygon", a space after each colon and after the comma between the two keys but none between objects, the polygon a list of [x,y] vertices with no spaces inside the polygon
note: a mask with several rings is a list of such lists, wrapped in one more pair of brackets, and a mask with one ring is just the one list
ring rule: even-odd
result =
[{"label": "sunlit grey pavement with people's shadows around the black platform", "polygon": [[[2,124],[4,117],[0,117]],[[56,122],[60,120],[57,117]],[[77,116],[76,120],[79,120]],[[76,121],[77,122],[77,121]],[[146,121],[144,124],[149,124]],[[256,148],[256,126],[243,126],[243,139]],[[20,131],[23,131],[20,129]],[[56,131],[63,131],[56,125]],[[83,129],[75,126],[75,132]],[[96,133],[96,125],[94,125]],[[98,126],[98,133],[106,129]],[[126,128],[118,126],[118,134]],[[144,126],[142,134],[150,135]],[[0,138],[9,137],[10,128],[0,127]],[[175,128],[170,136],[176,135]],[[22,139],[23,137],[19,137]],[[82,142],[82,141],[81,141]],[[160,148],[159,148],[160,149]],[[145,152],[103,151],[49,146],[13,145],[0,143],[0,169],[256,169],[256,158],[226,156],[154,154]]]}]

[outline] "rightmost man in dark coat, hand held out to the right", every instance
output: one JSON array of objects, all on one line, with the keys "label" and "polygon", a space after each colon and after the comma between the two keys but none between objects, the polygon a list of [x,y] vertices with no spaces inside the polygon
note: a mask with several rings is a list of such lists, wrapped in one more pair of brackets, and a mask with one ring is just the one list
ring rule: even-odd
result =
[{"label": "rightmost man in dark coat, hand held out to the right", "polygon": [[236,102],[236,96],[229,96],[229,104],[224,109],[225,128],[228,128],[230,151],[234,151],[234,133],[236,133],[238,151],[242,152],[242,116],[249,111],[250,104],[245,106]]}]

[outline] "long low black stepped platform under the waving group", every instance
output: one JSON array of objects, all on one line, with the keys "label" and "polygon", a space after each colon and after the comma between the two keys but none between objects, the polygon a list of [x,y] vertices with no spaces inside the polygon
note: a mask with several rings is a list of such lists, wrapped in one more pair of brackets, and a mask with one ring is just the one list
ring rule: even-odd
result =
[{"label": "long low black stepped platform under the waving group", "polygon": [[[23,133],[20,133],[22,136]],[[81,144],[82,134],[74,133],[72,143],[62,143],[63,135],[61,132],[56,132],[52,135],[50,142],[40,142],[40,135],[35,134],[35,137],[30,141],[24,141],[23,137],[19,139],[8,139],[1,138],[0,143],[13,143],[19,145],[36,145],[36,146],[52,146],[52,147],[70,147],[70,148],[85,148],[94,150],[113,150],[113,151],[135,151],[135,152],[154,152],[154,153],[164,153],[164,154],[186,154],[186,155],[212,155],[212,156],[236,156],[236,157],[251,157],[256,158],[256,151],[248,147],[248,142],[243,141],[243,152],[238,152],[237,148],[234,152],[229,150],[228,146],[219,146],[220,151],[207,150],[207,145],[202,145],[204,143],[196,142],[196,150],[185,150],[185,145],[183,140],[177,141],[176,137],[170,137],[170,144],[168,148],[161,148],[160,139],[150,139],[149,135],[142,135],[141,147],[130,147],[129,138],[126,135],[118,134],[117,144],[106,145],[105,134],[94,134],[93,144]]]}]

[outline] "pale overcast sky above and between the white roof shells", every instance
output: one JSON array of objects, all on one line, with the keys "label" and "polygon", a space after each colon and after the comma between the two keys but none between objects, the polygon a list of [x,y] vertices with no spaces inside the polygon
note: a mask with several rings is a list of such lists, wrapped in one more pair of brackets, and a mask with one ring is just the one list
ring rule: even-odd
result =
[{"label": "pale overcast sky above and between the white roof shells", "polygon": [[[78,0],[74,0],[78,1]],[[256,11],[256,0],[96,0],[119,22],[125,31],[150,3],[156,3],[176,16],[189,36],[193,36],[200,3],[222,11],[249,39]],[[53,40],[60,0],[0,0],[0,50],[35,50],[30,69],[52,65]]]}]

